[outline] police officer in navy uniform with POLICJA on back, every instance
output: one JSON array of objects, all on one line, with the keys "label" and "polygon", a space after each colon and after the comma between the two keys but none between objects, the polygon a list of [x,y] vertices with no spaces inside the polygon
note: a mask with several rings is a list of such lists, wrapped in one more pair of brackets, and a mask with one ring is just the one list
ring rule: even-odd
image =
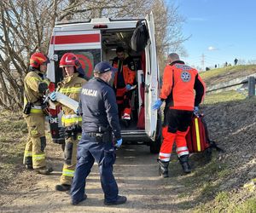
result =
[{"label": "police officer in navy uniform with POLICJA on back", "polygon": [[[125,196],[119,196],[119,188],[113,177],[115,147],[120,147],[118,107],[113,89],[108,84],[114,68],[108,62],[96,64],[95,78],[82,87],[80,107],[83,113],[82,138],[78,147],[78,163],[71,187],[72,204],[86,199],[85,179],[96,161],[99,164],[104,204],[124,204]],[[113,134],[112,134],[113,133]],[[113,136],[116,144],[113,144]]]}]

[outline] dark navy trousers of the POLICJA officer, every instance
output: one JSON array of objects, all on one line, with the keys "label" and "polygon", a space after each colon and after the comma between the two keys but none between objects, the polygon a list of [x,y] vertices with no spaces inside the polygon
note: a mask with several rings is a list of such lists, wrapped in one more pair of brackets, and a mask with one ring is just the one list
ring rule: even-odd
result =
[{"label": "dark navy trousers of the POLICJA officer", "polygon": [[83,133],[79,141],[78,163],[70,192],[73,201],[79,201],[84,197],[86,177],[90,174],[90,169],[95,161],[99,165],[105,201],[117,200],[119,188],[113,176],[115,157],[115,149],[111,141],[109,143],[97,142],[96,137]]}]

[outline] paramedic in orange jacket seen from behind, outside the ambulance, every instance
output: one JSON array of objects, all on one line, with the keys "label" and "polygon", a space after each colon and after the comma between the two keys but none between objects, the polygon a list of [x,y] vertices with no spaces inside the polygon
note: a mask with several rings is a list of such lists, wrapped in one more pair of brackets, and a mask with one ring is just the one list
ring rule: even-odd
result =
[{"label": "paramedic in orange jacket seen from behind, outside the ambulance", "polygon": [[185,136],[189,131],[193,111],[198,111],[206,91],[205,83],[199,73],[185,65],[176,53],[168,55],[168,62],[163,74],[160,99],[152,107],[154,110],[160,109],[163,101],[166,101],[162,128],[163,143],[158,158],[160,175],[163,177],[168,177],[168,165],[174,141],[176,141],[176,153],[183,171],[185,173],[191,171]]}]

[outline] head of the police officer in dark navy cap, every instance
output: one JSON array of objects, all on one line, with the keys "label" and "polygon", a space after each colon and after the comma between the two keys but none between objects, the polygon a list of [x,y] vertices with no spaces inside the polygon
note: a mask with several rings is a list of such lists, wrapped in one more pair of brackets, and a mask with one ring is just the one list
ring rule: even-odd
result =
[{"label": "head of the police officer in dark navy cap", "polygon": [[113,72],[117,69],[111,66],[107,61],[102,61],[97,63],[94,67],[94,76],[96,78],[101,78],[103,81],[110,83],[111,78],[113,78]]}]

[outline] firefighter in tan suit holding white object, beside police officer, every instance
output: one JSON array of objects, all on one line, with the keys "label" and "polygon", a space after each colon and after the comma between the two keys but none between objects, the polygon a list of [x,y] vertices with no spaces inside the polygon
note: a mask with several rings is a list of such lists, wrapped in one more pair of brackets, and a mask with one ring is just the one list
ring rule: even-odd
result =
[{"label": "firefighter in tan suit holding white object, beside police officer", "polygon": [[[57,91],[79,101],[80,90],[86,80],[84,70],[80,66],[79,58],[73,53],[66,53],[61,57],[60,67],[65,75],[64,79],[58,83]],[[51,101],[56,101],[55,92],[49,95]],[[81,137],[82,117],[73,112],[69,107],[62,106],[62,125],[66,129],[66,142],[64,147],[64,165],[61,175],[61,184],[55,186],[57,191],[70,190],[73,180],[73,173],[76,165],[77,147]]]}]

